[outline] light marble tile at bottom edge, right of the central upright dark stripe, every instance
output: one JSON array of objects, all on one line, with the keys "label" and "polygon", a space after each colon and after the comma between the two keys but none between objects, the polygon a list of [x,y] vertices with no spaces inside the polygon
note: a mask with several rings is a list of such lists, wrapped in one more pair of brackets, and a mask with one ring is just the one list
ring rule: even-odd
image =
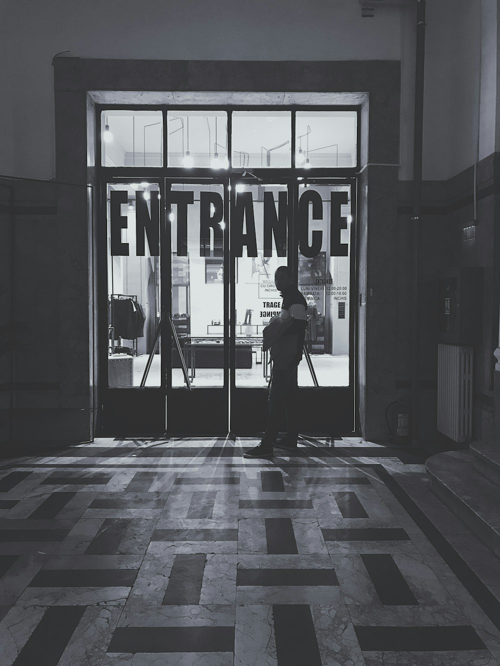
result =
[{"label": "light marble tile at bottom edge, right of the central upright dark stripe", "polygon": [[323,666],[365,666],[347,606],[311,604]]}]

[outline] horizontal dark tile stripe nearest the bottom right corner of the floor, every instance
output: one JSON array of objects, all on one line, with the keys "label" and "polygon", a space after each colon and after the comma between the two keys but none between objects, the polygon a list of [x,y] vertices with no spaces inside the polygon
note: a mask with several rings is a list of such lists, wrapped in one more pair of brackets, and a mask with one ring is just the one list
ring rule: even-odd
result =
[{"label": "horizontal dark tile stripe nearest the bottom right corner of the floor", "polygon": [[485,650],[473,627],[354,627],[364,651]]}]

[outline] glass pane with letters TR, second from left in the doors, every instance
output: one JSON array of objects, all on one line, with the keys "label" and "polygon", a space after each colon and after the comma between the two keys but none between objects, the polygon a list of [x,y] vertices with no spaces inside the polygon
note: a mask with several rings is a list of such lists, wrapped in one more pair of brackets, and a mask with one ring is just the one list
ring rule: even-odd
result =
[{"label": "glass pane with letters TR, second from left in the doors", "polygon": [[223,386],[223,185],[173,184],[170,196],[172,386],[185,386],[179,348],[193,388]]}]

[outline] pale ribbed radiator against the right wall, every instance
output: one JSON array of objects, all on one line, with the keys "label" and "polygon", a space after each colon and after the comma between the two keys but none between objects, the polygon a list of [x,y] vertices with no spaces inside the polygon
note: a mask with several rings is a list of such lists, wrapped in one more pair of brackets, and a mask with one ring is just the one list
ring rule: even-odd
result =
[{"label": "pale ribbed radiator against the right wall", "polygon": [[472,438],[473,348],[437,346],[437,430],[455,442]]}]

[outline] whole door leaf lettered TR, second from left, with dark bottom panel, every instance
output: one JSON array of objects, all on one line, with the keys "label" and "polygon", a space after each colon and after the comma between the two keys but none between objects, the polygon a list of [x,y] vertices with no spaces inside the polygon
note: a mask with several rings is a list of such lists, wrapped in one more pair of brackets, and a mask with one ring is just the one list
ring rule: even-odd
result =
[{"label": "whole door leaf lettered TR, second from left, with dark bottom panel", "polygon": [[167,431],[229,430],[228,181],[167,180]]}]

